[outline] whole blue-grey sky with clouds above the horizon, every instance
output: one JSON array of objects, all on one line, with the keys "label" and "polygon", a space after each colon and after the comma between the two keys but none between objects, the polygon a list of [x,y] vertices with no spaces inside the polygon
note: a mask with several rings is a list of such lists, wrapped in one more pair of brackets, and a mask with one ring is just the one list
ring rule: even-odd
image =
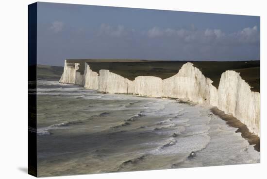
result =
[{"label": "whole blue-grey sky with clouds above the horizon", "polygon": [[37,3],[37,63],[260,59],[260,17]]}]

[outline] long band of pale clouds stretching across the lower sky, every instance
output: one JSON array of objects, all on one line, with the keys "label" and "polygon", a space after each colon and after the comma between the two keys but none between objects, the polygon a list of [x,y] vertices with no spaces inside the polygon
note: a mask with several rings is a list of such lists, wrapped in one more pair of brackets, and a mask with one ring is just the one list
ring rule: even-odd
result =
[{"label": "long band of pale clouds stretching across the lower sky", "polygon": [[38,42],[39,59],[44,61],[53,59],[60,63],[66,58],[260,59],[260,31],[257,26],[232,33],[211,28],[198,30],[194,25],[189,29],[155,26],[148,30],[135,30],[123,25],[101,24],[95,29],[81,30],[54,21],[48,28],[49,31],[43,32]]}]

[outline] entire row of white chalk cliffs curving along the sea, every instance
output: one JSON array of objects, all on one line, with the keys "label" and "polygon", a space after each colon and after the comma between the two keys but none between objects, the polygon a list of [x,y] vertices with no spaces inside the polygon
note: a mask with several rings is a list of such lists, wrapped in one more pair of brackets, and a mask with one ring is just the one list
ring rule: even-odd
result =
[{"label": "entire row of white chalk cliffs curving along the sea", "polygon": [[[260,93],[250,86],[238,72],[222,73],[218,89],[192,63],[186,63],[177,74],[162,80],[155,76],[137,76],[134,81],[109,70],[93,72],[90,66],[68,63],[65,60],[61,83],[84,86],[85,89],[105,93],[124,93],[149,97],[167,97],[190,100],[215,106],[247,125],[250,132],[260,137]],[[78,72],[79,71],[79,72]]]}]

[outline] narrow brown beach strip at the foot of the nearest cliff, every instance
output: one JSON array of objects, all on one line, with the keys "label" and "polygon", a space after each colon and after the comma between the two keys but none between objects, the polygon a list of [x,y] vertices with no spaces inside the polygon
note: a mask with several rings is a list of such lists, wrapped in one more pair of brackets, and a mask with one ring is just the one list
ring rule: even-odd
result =
[{"label": "narrow brown beach strip at the foot of the nearest cliff", "polygon": [[217,107],[212,107],[211,112],[214,115],[217,115],[222,120],[226,121],[227,125],[237,128],[236,133],[240,132],[241,136],[246,139],[250,145],[254,145],[254,149],[258,152],[261,151],[261,143],[260,138],[255,134],[249,131],[247,125],[241,123],[237,118],[235,118],[232,114],[225,114],[223,111],[219,110]]}]

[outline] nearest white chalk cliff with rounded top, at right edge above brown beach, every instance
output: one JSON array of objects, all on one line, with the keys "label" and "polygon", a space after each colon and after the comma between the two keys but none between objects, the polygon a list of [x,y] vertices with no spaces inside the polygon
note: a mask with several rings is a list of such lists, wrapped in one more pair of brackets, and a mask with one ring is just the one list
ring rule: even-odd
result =
[{"label": "nearest white chalk cliff with rounded top, at right edge above brown beach", "polygon": [[234,71],[222,73],[218,88],[217,107],[246,124],[251,132],[260,136],[260,93]]}]

